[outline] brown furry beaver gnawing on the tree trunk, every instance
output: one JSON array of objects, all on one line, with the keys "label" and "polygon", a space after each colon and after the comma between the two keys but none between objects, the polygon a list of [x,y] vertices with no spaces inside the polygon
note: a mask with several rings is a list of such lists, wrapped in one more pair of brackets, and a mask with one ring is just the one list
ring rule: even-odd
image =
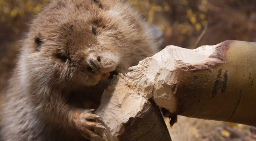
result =
[{"label": "brown furry beaver gnawing on the tree trunk", "polygon": [[[1,109],[3,141],[86,141],[111,76],[159,49],[149,23],[120,0],[54,0],[22,41]],[[112,75],[107,79],[108,74]]]}]

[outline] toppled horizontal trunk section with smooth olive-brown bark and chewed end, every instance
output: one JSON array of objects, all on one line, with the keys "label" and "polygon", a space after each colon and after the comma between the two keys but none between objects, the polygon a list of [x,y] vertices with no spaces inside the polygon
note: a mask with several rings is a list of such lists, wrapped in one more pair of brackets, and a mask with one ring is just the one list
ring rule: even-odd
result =
[{"label": "toppled horizontal trunk section with smooth olive-brown bark and chewed end", "polygon": [[169,61],[164,62],[173,65],[160,67],[168,68],[167,73],[160,71],[154,80],[157,105],[187,117],[256,126],[255,42],[225,41],[193,50],[171,46],[169,50]]}]

